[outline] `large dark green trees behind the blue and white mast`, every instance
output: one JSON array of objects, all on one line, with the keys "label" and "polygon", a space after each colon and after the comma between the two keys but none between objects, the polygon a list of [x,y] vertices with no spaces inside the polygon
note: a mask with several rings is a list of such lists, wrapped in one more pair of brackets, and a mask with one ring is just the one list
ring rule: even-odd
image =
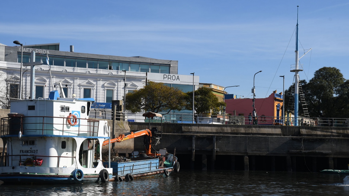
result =
[{"label": "large dark green trees behind the blue and white mast", "polygon": [[[344,79],[339,69],[322,67],[315,71],[309,83],[305,80],[299,83],[302,85],[310,117],[348,118],[349,82]],[[285,90],[285,104],[294,107],[294,103],[288,104],[288,100],[294,102],[292,99],[294,89],[292,90],[291,87]],[[301,103],[299,103],[299,112],[301,109]]]}]

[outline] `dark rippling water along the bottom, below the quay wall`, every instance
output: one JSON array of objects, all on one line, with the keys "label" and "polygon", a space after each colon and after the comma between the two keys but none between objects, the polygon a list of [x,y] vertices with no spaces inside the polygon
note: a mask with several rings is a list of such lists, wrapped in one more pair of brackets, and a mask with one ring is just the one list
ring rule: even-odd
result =
[{"label": "dark rippling water along the bottom, below the quay wall", "polygon": [[349,195],[349,176],[184,171],[166,178],[75,185],[0,185],[0,195]]}]

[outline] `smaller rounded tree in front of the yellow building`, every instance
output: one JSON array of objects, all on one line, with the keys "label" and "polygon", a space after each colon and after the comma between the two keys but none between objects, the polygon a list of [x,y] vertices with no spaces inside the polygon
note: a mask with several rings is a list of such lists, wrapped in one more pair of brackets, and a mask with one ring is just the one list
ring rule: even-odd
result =
[{"label": "smaller rounded tree in front of the yellow building", "polygon": [[[193,108],[193,91],[187,92],[187,110]],[[201,87],[194,91],[194,109],[196,114],[203,114],[212,110],[213,114],[217,114],[222,106],[226,104],[223,101],[219,101],[218,98],[212,93],[211,89]]]}]

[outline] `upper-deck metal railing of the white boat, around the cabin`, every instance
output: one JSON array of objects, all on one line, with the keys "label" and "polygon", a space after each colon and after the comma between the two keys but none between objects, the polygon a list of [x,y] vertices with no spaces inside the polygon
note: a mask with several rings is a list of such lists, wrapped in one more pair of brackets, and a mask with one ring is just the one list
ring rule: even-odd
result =
[{"label": "upper-deck metal railing of the white boat, around the cabin", "polygon": [[[1,135],[74,135],[97,136],[98,120],[53,116],[19,116],[1,118]],[[69,123],[70,122],[70,123]]]}]

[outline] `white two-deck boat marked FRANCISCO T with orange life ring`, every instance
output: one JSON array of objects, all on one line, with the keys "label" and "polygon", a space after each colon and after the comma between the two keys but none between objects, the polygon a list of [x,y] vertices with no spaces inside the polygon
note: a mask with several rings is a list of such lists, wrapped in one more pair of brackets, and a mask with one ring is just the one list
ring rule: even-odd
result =
[{"label": "white two-deck boat marked FRANCISCO T with orange life ring", "polygon": [[[103,182],[112,168],[102,161],[102,144],[109,139],[107,121],[88,119],[94,99],[60,98],[11,101],[1,119],[3,182]],[[6,155],[5,153],[6,149]]]}]

